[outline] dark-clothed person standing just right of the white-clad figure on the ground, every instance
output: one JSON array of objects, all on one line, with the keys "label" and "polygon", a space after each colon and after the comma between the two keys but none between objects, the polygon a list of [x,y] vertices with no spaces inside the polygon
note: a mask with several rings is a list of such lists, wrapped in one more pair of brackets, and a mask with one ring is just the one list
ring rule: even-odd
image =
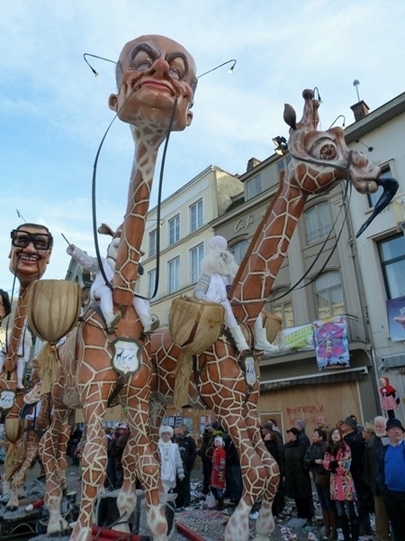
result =
[{"label": "dark-clothed person standing just right of the white-clad figure on the ground", "polygon": [[174,442],[178,445],[184,468],[184,479],[177,478],[175,499],[176,510],[184,509],[191,503],[191,472],[197,456],[197,445],[193,437],[188,435],[187,425],[175,426]]}]

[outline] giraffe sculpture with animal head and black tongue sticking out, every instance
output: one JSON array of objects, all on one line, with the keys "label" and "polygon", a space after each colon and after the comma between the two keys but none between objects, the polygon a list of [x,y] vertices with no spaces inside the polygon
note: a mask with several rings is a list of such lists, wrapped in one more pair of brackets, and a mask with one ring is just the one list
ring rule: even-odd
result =
[{"label": "giraffe sculpture with animal head and black tongue sticking out", "polygon": [[[293,107],[285,107],[284,117],[291,126],[289,148],[293,160],[229,291],[235,315],[248,326],[254,325],[266,303],[307,198],[311,194],[329,191],[345,178],[360,193],[372,193],[379,184],[383,184],[379,179],[380,169],[371,164],[363,152],[348,150],[343,130],[317,131],[319,102],[313,99],[311,90],[304,90],[303,97],[305,105],[300,123],[296,123]],[[380,209],[395,194],[395,182],[383,184]],[[169,333],[162,331],[152,336],[151,353],[158,373],[154,394],[158,418],[158,401],[173,401],[173,372],[180,352]],[[256,359],[255,369],[257,363]],[[264,541],[275,527],[271,508],[279,472],[273,458],[269,457],[266,449],[263,450],[258,436],[257,399],[257,372],[256,382],[247,385],[241,356],[223,336],[194,361],[188,405],[203,404],[215,412],[221,425],[232,436],[242,469],[244,491],[238,508],[229,519],[226,541],[247,541],[249,509],[260,495],[263,495],[263,505],[257,519],[257,538]],[[257,476],[255,472],[258,472]]]}]

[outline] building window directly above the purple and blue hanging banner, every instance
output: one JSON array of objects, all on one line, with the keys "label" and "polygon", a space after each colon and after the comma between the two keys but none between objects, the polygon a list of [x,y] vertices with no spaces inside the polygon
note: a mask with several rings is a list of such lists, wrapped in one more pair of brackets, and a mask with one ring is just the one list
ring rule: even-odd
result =
[{"label": "building window directly above the purple and blue hanging banner", "polygon": [[343,289],[338,271],[326,272],[313,282],[319,319],[345,313]]}]

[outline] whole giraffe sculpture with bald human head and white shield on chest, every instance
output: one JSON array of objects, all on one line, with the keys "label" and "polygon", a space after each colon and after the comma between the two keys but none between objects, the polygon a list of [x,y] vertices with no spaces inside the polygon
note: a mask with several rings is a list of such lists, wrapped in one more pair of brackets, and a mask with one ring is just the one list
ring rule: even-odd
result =
[{"label": "whole giraffe sculpture with bald human head and white shield on chest", "polygon": [[[109,104],[123,122],[130,124],[135,142],[128,205],[117,233],[121,242],[112,285],[114,312],[121,314],[121,321],[111,334],[102,317],[90,308],[60,347],[62,366],[52,397],[54,415],[40,445],[47,476],[48,534],[67,530],[60,515],[67,416],[71,408],[82,408],[87,427],[82,449],[82,500],[70,538],[92,539],[94,499],[106,472],[103,415],[113,395],[124,407],[130,427],[122,455],[124,481],[117,500],[121,518],[114,529],[129,531],[138,478],[145,489],[151,535],[154,541],[166,541],[166,518],[159,502],[159,464],[148,436],[150,389],[155,385],[156,369],[150,362],[148,335],[143,334],[132,300],[157,151],[169,129],[183,130],[191,123],[189,106],[196,84],[195,66],[188,51],[175,41],[163,36],[141,36],[124,46],[116,75],[118,94],[110,96]],[[131,368],[120,375],[112,362],[120,364],[124,351],[131,357]]]}]

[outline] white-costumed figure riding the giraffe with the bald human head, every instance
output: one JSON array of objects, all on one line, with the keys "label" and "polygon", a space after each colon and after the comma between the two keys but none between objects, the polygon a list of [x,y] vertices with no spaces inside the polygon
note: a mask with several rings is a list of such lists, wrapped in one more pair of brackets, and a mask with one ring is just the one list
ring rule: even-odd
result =
[{"label": "white-costumed figure riding the giraffe with the bald human head", "polygon": [[[107,280],[110,284],[115,271],[115,261],[117,259],[118,248],[120,246],[120,238],[114,237],[112,242],[108,245],[107,248],[107,257],[102,257],[103,261],[103,271]],[[121,314],[114,314],[113,305],[112,305],[112,289],[110,284],[106,284],[103,278],[103,274],[100,271],[100,267],[96,257],[88,255],[80,248],[77,248],[75,244],[69,244],[66,249],[67,253],[80,265],[82,265],[87,271],[90,271],[95,274],[94,282],[90,289],[90,298],[92,300],[100,301],[100,308],[103,312],[105,323],[108,328],[114,328],[120,323]],[[139,274],[140,274],[140,264],[139,264]],[[132,306],[135,308],[140,323],[143,326],[145,333],[150,333],[155,330],[159,325],[159,320],[157,316],[149,314],[149,305],[148,301],[144,298],[139,298],[134,295]]]}]

